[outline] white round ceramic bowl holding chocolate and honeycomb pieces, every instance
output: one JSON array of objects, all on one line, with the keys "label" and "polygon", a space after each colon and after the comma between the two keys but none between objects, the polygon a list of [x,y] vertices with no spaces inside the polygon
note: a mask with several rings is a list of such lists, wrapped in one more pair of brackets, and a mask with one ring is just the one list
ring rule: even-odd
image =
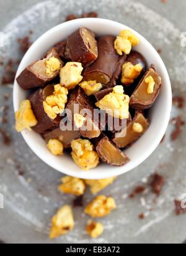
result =
[{"label": "white round ceramic bowl holding chocolate and honeycomb pieces", "polygon": [[[74,32],[79,27],[87,27],[95,32],[99,37],[100,35],[115,35],[123,29],[130,29],[123,24],[114,21],[108,21],[105,19],[77,19],[74,21],[65,22],[50,29],[43,34],[25,54],[22,62],[17,70],[16,77],[20,74],[26,66],[33,61],[42,57],[50,47],[61,40],[66,39],[68,35]],[[73,162],[71,155],[65,154],[62,157],[55,157],[47,149],[47,146],[39,134],[35,132],[29,132],[24,130],[22,136],[25,142],[29,145],[30,149],[40,157],[43,162],[50,165],[50,167],[65,173],[66,175],[76,176],[84,179],[103,179],[112,176],[121,175],[127,171],[133,170],[138,167],[144,160],[146,160],[156,147],[161,142],[163,135],[166,132],[170,119],[170,111],[172,106],[172,90],[170,86],[169,75],[166,70],[166,66],[162,62],[161,57],[156,52],[154,47],[143,36],[139,35],[133,29],[137,37],[139,38],[139,45],[135,47],[146,58],[148,65],[152,63],[156,66],[157,71],[162,77],[162,90],[159,97],[149,112],[150,127],[147,132],[133,144],[129,149],[125,150],[125,153],[130,157],[130,162],[123,167],[112,167],[101,163],[97,168],[82,171]],[[19,109],[19,104],[22,99],[27,98],[27,91],[24,91],[19,87],[17,81],[14,82],[14,109]]]}]

